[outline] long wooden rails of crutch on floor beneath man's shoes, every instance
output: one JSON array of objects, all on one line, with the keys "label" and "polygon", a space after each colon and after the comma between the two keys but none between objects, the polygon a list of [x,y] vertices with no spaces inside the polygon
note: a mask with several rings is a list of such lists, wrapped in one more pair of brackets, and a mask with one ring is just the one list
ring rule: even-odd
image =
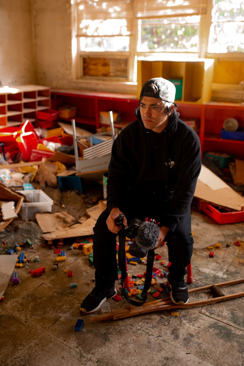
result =
[{"label": "long wooden rails of crutch on floor beneath man's shoes", "polygon": [[[240,284],[240,283],[244,283],[244,279],[216,283],[214,285],[217,287],[224,287],[224,286],[231,286],[231,285],[236,285],[236,284]],[[195,292],[202,292],[202,291],[210,290],[211,286],[212,285],[192,288],[188,292],[189,292],[189,294],[193,294]],[[206,300],[199,300],[199,301],[195,301],[195,302],[188,302],[185,305],[175,305],[171,301],[170,297],[168,296],[163,299],[145,303],[144,305],[142,305],[140,307],[128,306],[128,307],[124,307],[121,309],[113,310],[113,311],[111,311],[111,313],[97,315],[95,317],[91,317],[91,321],[93,322],[93,321],[101,321],[101,320],[108,320],[108,319],[116,320],[116,319],[130,317],[133,315],[150,313],[152,311],[159,311],[159,310],[184,309],[186,307],[207,305],[207,304],[212,304],[212,303],[216,303],[216,302],[234,299],[234,298],[241,297],[241,296],[244,296],[244,292],[239,292],[239,293],[232,294],[232,295],[219,296],[216,298],[211,298],[211,299],[206,299]]]}]

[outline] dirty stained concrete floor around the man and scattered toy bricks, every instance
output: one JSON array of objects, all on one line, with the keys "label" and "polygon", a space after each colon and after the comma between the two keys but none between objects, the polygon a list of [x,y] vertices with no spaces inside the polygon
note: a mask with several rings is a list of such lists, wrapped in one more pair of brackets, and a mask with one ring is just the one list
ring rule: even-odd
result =
[{"label": "dirty stained concrete floor around the man and scattered toy bricks", "polygon": [[[244,278],[244,246],[234,244],[235,240],[244,242],[244,223],[218,225],[205,214],[192,212],[192,231],[196,247],[198,241],[202,249],[194,249],[194,281],[188,288]],[[31,263],[17,270],[20,283],[9,284],[0,303],[1,366],[244,365],[244,297],[180,309],[179,316],[167,310],[91,322],[94,314],[79,310],[81,300],[94,285],[94,267],[89,265],[88,256],[78,249],[69,250],[69,243],[64,243],[66,261],[53,270],[56,254],[43,246],[37,225],[15,219],[1,232],[0,239],[9,238],[13,232],[19,238],[32,232],[37,239],[33,241],[34,248],[23,247]],[[218,238],[220,249],[215,247]],[[209,245],[214,246],[214,258],[209,257]],[[166,246],[157,253],[168,261]],[[36,255],[38,263],[33,262]],[[30,268],[41,266],[46,272],[41,277],[31,277]],[[155,261],[155,266],[165,269],[160,262]],[[65,269],[72,270],[73,277],[68,277]],[[128,265],[128,270],[131,275],[143,273],[145,266]],[[70,288],[70,283],[77,283],[77,287]],[[120,294],[119,281],[116,288]],[[244,284],[222,291],[244,291]],[[205,299],[209,293],[191,295],[190,301],[197,296]],[[153,300],[151,295],[148,299]],[[95,314],[127,305],[125,299],[111,299]],[[77,319],[84,320],[81,331],[75,330]]]}]

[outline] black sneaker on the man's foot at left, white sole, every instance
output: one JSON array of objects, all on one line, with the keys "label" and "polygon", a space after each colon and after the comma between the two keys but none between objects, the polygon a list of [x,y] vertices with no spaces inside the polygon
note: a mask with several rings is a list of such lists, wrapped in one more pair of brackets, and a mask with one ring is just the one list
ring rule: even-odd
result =
[{"label": "black sneaker on the man's foot at left, white sole", "polygon": [[113,298],[116,294],[115,288],[100,290],[95,286],[81,303],[80,311],[83,311],[83,313],[94,313],[105,301]]}]

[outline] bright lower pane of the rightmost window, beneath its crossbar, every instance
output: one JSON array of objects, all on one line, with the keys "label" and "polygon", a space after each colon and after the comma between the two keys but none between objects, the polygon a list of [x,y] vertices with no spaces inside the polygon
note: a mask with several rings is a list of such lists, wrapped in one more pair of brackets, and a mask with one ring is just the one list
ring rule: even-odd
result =
[{"label": "bright lower pane of the rightmost window, beneath its crossbar", "polygon": [[244,52],[244,23],[213,23],[210,27],[209,53]]}]

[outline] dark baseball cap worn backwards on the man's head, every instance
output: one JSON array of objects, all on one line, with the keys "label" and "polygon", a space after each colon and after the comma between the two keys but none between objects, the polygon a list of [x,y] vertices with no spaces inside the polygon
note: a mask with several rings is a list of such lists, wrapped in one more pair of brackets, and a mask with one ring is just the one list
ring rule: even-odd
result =
[{"label": "dark baseball cap worn backwards on the man's head", "polygon": [[153,78],[146,81],[142,86],[140,98],[157,98],[165,102],[173,103],[176,107],[178,107],[178,105],[175,103],[175,92],[175,86],[171,81],[161,77]]}]

